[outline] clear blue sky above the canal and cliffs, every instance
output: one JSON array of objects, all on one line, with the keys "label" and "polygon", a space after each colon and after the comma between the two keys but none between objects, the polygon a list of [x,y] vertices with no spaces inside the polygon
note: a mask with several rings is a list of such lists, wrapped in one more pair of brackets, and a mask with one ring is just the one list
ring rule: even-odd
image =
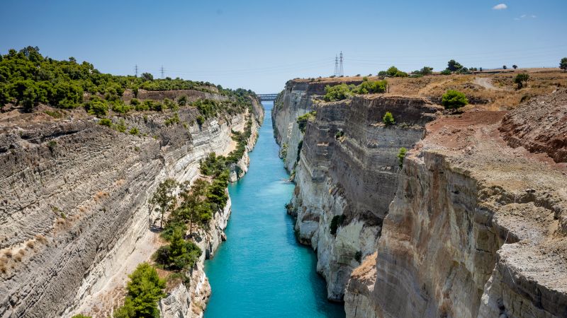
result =
[{"label": "clear blue sky above the canal and cliffs", "polygon": [[[506,8],[498,4],[505,4]],[[498,8],[498,7],[497,7]],[[276,93],[296,77],[464,66],[558,66],[567,1],[20,1],[1,4],[0,52],[40,47],[100,71]]]}]

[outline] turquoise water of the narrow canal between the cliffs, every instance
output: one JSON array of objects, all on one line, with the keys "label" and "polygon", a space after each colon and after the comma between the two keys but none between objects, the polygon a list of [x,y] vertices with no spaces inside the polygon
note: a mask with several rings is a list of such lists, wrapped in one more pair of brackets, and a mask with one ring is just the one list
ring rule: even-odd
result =
[{"label": "turquoise water of the narrow canal between the cliffs", "polygon": [[283,207],[293,184],[285,181],[289,176],[278,158],[273,103],[262,104],[266,116],[249,171],[228,186],[228,240],[205,264],[213,288],[205,317],[344,317],[342,305],[327,302],[315,253],[293,234],[293,219]]}]

